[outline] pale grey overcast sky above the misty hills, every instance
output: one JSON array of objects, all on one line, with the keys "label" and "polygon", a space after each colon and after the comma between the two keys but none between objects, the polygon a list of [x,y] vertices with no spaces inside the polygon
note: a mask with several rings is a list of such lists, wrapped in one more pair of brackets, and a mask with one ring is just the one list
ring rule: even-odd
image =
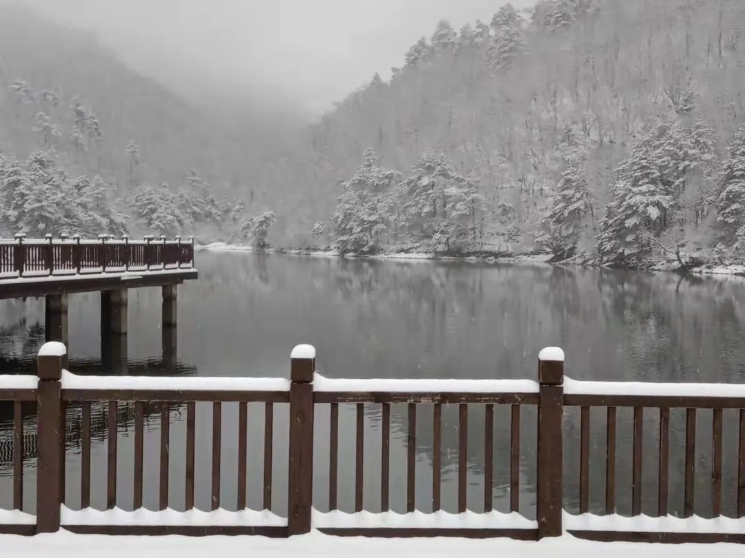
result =
[{"label": "pale grey overcast sky above the misty hills", "polygon": [[[504,0],[22,0],[95,30],[127,64],[193,98],[317,116],[440,19],[488,22]],[[527,7],[534,0],[513,0]]]}]

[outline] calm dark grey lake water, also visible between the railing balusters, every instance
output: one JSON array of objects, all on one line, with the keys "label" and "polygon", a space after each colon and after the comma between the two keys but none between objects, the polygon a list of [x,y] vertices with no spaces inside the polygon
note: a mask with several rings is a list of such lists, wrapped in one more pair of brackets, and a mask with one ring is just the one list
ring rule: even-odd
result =
[{"label": "calm dark grey lake water, also visible between the railing balusters", "polygon": [[[69,300],[70,366],[76,373],[287,377],[295,344],[317,347],[317,368],[335,377],[536,378],[542,347],[559,345],[575,379],[650,382],[745,382],[745,281],[681,278],[605,269],[431,261],[342,260],[279,254],[197,254],[200,279],[179,288],[177,359],[162,355],[159,289],[129,298],[126,363],[104,345],[98,293]],[[34,372],[43,342],[41,301],[0,301],[0,373]],[[121,353],[121,349],[119,350]],[[126,370],[125,370],[126,369]],[[510,409],[495,410],[493,503],[509,508]],[[92,505],[105,507],[105,406],[93,406]],[[80,410],[69,408],[67,503],[80,503]],[[579,416],[565,414],[565,506],[577,509]],[[591,510],[604,507],[605,410],[593,409]],[[631,414],[618,411],[617,501],[630,513]],[[286,405],[275,405],[272,508],[284,514],[287,490]],[[697,513],[711,513],[711,411],[699,411]],[[223,507],[235,509],[238,409],[223,404]],[[197,404],[196,504],[209,508],[212,407]],[[170,415],[169,501],[183,509],[186,408]],[[315,505],[326,509],[329,407],[317,405]],[[735,513],[736,411],[725,411],[723,510]],[[380,507],[381,411],[366,405],[365,508]],[[534,516],[536,417],[522,410],[521,512]],[[25,509],[34,509],[33,412],[25,415]],[[340,405],[339,507],[354,509],[355,415]],[[405,405],[391,412],[390,505],[405,510]],[[658,418],[644,420],[644,513],[656,512]],[[685,409],[671,414],[670,510],[682,512]],[[417,416],[416,505],[431,505],[431,407]],[[248,505],[261,508],[264,408],[249,405]],[[0,507],[10,507],[12,408],[0,403]],[[483,509],[484,407],[469,408],[469,507]],[[443,507],[457,509],[457,406],[443,405]],[[133,412],[118,417],[118,505],[132,505]],[[148,409],[145,507],[158,499],[159,411]]]}]

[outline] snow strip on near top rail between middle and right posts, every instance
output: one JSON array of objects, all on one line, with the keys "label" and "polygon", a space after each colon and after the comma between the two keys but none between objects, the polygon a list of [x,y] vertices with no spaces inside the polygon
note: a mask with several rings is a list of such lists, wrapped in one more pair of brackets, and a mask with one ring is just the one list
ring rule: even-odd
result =
[{"label": "snow strip on near top rail between middle and right posts", "polygon": [[473,393],[473,394],[536,394],[538,382],[532,379],[357,379],[326,378],[316,373],[314,391],[326,392],[400,392],[400,393]]}]

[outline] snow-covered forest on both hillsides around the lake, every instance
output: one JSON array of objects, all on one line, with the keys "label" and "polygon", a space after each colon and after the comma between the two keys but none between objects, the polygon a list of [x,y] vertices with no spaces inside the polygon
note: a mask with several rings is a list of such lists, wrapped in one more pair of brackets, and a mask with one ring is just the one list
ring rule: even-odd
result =
[{"label": "snow-covered forest on both hillsides around the lake", "polygon": [[31,39],[66,45],[60,71],[59,52],[16,44],[27,21],[0,24],[8,233],[621,266],[745,257],[740,0],[495,0],[491,19],[412,38],[390,79],[289,139],[229,129],[91,37],[39,24]]}]

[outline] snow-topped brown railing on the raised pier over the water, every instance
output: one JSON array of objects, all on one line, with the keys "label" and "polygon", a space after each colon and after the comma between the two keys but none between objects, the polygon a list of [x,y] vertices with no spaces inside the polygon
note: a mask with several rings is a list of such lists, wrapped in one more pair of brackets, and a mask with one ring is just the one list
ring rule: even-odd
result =
[{"label": "snow-topped brown railing on the raised pier over the water", "polygon": [[115,240],[101,235],[98,240],[80,237],[27,240],[0,239],[0,277],[43,277],[86,275],[107,272],[146,272],[194,266],[194,239],[182,242],[145,237]]}]

